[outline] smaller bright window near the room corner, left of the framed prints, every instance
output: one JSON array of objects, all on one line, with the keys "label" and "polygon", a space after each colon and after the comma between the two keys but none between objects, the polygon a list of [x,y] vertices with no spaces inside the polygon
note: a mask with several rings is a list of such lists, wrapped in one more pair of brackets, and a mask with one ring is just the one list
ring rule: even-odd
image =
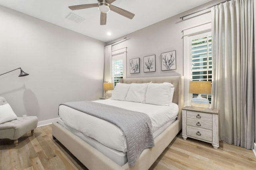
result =
[{"label": "smaller bright window near the room corner, left of the framed prints", "polygon": [[114,86],[120,78],[126,78],[126,48],[112,51],[112,82],[114,82]]}]

